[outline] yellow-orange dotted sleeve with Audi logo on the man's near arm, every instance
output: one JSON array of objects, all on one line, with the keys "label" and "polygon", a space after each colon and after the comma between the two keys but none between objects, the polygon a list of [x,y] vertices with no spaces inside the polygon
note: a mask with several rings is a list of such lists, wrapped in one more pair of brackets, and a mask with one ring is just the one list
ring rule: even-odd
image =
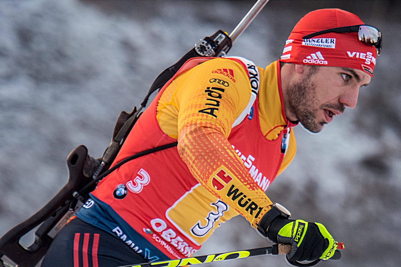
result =
[{"label": "yellow-orange dotted sleeve with Audi logo on the man's near arm", "polygon": [[[231,70],[233,78],[213,72],[223,68]],[[175,94],[178,153],[199,183],[256,228],[272,203],[227,140],[235,118],[249,102],[249,78],[241,64],[229,59],[209,60],[185,76]]]}]

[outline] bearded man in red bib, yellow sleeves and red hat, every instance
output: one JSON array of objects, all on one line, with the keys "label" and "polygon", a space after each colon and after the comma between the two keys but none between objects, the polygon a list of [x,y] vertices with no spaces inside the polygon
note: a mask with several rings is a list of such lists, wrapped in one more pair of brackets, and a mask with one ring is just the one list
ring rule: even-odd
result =
[{"label": "bearded man in red bib, yellow sleeves and red hat", "polygon": [[[266,68],[238,57],[193,58],[158,92],[105,177],[53,241],[42,266],[110,267],[190,257],[241,215],[290,261],[339,259],[321,223],[290,219],[265,190],[296,153],[292,127],[319,132],[354,108],[373,76],[381,33],[322,9],[292,30]],[[235,233],[235,229],[232,229]]]}]

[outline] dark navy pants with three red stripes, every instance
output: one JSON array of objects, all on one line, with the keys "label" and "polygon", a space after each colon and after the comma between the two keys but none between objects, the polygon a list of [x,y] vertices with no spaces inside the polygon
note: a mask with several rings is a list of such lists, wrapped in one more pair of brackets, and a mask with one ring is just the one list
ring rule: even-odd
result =
[{"label": "dark navy pants with three red stripes", "polygon": [[41,267],[116,267],[144,262],[121,240],[75,218],[57,234]]}]

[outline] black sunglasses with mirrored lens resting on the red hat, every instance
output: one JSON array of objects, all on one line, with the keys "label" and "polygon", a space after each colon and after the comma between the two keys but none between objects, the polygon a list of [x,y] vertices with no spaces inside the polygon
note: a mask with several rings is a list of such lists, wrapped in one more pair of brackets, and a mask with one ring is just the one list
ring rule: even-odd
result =
[{"label": "black sunglasses with mirrored lens resting on the red hat", "polygon": [[359,41],[363,44],[368,46],[375,46],[377,50],[377,54],[380,54],[381,51],[381,32],[369,25],[354,25],[354,26],[345,26],[339,28],[332,28],[328,30],[321,30],[319,32],[314,32],[302,37],[303,39],[310,39],[312,37],[318,36],[320,34],[325,34],[329,32],[336,32],[336,33],[345,33],[345,32],[358,32]]}]

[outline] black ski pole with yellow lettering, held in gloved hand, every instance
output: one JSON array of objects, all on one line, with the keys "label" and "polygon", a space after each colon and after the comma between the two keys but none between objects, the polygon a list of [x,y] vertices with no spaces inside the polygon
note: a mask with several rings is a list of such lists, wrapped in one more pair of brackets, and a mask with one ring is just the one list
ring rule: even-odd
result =
[{"label": "black ski pole with yellow lettering, held in gloved hand", "polygon": [[287,254],[290,253],[292,249],[291,245],[286,244],[275,244],[271,247],[261,247],[258,249],[247,249],[247,250],[239,250],[239,251],[231,251],[224,252],[218,254],[209,254],[202,256],[194,256],[190,258],[182,258],[182,259],[171,259],[167,261],[156,261],[150,263],[141,263],[137,265],[124,265],[119,267],[177,267],[177,266],[185,266],[185,265],[193,265],[200,263],[210,263],[214,261],[225,261],[229,259],[244,259],[252,256],[260,256],[260,255],[278,255],[278,254]]}]

